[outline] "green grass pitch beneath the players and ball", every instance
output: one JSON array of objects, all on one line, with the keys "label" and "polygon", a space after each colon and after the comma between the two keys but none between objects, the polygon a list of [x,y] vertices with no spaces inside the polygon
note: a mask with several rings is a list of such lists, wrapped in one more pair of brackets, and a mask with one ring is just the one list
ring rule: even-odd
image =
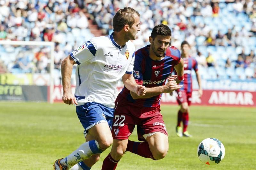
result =
[{"label": "green grass pitch beneath the players and ball", "polygon": [[[64,103],[0,102],[0,169],[52,169],[84,142],[75,106]],[[169,152],[154,161],[127,152],[117,170],[255,169],[256,108],[191,106],[188,131],[193,138],[175,135],[178,106],[161,106],[169,133]],[[136,132],[136,131],[135,131]],[[217,138],[226,148],[225,158],[208,166],[197,157],[204,138]],[[136,133],[130,137],[137,139]],[[101,169],[110,148],[92,169]]]}]

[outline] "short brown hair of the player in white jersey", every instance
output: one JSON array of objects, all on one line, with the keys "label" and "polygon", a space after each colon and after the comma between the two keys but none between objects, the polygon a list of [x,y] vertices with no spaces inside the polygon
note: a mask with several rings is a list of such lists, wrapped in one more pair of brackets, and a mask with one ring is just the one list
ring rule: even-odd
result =
[{"label": "short brown hair of the player in white jersey", "polygon": [[134,14],[137,14],[140,17],[139,12],[131,7],[124,7],[123,9],[118,10],[113,18],[114,31],[121,31],[126,24],[132,27],[135,23]]}]

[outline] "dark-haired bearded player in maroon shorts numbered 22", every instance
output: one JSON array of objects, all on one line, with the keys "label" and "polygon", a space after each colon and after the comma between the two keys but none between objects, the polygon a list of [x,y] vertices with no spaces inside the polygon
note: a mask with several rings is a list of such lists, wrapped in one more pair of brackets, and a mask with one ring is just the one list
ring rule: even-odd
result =
[{"label": "dark-haired bearded player in maroon shorts numbered 22", "polygon": [[[156,25],[149,37],[150,45],[135,52],[134,78],[137,84],[146,87],[146,95],[137,96],[124,87],[117,96],[112,126],[114,141],[102,169],[115,169],[125,151],[154,160],[163,159],[167,154],[168,134],[160,113],[160,98],[162,93],[180,89],[176,82],[183,79],[180,51],[169,46],[170,40],[170,28],[163,24]],[[169,77],[174,68],[178,76]],[[165,84],[167,79],[169,82]],[[135,125],[138,139],[147,142],[128,140]]]}]

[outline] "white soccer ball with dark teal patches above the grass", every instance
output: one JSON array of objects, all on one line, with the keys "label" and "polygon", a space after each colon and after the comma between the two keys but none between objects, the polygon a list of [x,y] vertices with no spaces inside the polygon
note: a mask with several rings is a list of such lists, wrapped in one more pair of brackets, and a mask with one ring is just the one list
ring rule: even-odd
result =
[{"label": "white soccer ball with dark teal patches above the grass", "polygon": [[225,156],[225,147],[218,139],[207,138],[198,145],[197,155],[201,162],[217,165]]}]

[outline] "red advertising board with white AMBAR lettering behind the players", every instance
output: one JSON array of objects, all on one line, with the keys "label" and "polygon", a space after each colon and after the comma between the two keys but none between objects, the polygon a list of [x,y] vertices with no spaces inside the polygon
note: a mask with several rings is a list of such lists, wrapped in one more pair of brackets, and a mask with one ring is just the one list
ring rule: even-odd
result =
[{"label": "red advertising board with white AMBAR lettering behind the players", "polygon": [[[122,87],[117,88],[118,91]],[[72,86],[72,92],[75,92],[75,86]],[[54,102],[62,102],[62,86],[55,86],[53,90]],[[193,105],[219,105],[219,106],[251,106],[256,107],[256,91],[236,91],[236,90],[204,90],[203,96],[198,97],[196,90],[192,93]],[[164,93],[161,104],[177,104],[176,93],[170,96]]]}]

